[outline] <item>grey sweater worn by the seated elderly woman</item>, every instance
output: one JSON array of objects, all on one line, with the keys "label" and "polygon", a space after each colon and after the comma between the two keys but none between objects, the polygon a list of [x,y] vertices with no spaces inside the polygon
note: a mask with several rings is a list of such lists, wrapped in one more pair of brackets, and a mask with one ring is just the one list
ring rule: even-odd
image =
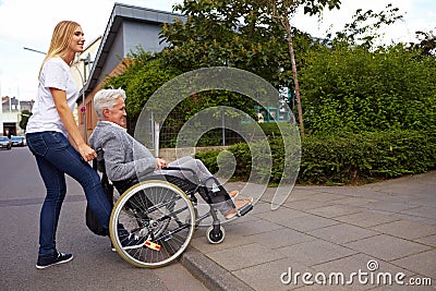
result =
[{"label": "grey sweater worn by the seated elderly woman", "polygon": [[97,161],[105,160],[104,167],[110,181],[140,178],[155,170],[155,157],[148,148],[110,122],[97,122],[89,136],[89,145],[98,153]]}]

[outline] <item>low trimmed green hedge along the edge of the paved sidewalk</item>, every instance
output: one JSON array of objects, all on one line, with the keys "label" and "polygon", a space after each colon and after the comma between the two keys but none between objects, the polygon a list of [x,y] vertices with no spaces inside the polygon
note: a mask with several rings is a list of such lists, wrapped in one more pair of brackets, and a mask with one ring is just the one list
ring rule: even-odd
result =
[{"label": "low trimmed green hedge along the edge of the paved sidewalk", "polygon": [[[277,184],[283,169],[281,137],[269,140],[272,168],[269,182]],[[233,178],[246,181],[253,159],[263,154],[250,153],[246,144],[228,148],[237,160]],[[219,151],[196,154],[213,171],[218,170]],[[223,155],[226,156],[226,155]],[[436,132],[391,131],[312,135],[301,141],[301,165],[296,182],[300,184],[355,184],[423,173],[436,169]],[[262,181],[264,169],[253,169]]]}]

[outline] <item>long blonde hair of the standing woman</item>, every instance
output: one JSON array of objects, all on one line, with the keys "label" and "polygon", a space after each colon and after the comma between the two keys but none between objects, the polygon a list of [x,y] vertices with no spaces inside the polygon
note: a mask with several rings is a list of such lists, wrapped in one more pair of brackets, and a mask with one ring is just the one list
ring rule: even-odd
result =
[{"label": "long blonde hair of the standing woman", "polygon": [[81,25],[73,21],[61,21],[56,25],[53,35],[51,36],[50,47],[48,48],[46,58],[44,59],[39,69],[39,74],[43,70],[44,63],[48,59],[61,57],[68,50],[71,39],[73,38],[74,31],[77,28],[77,26]]}]

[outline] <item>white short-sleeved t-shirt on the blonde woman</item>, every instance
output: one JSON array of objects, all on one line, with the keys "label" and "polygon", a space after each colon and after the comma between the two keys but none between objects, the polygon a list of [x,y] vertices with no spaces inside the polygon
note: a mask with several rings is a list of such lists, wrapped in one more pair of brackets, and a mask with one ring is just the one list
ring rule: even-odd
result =
[{"label": "white short-sleeved t-shirt on the blonde woman", "polygon": [[50,88],[57,88],[66,93],[66,102],[74,110],[78,98],[78,88],[71,75],[70,66],[61,58],[48,59],[39,77],[38,94],[33,108],[33,114],[28,119],[26,132],[56,131],[68,136],[58,110],[56,109]]}]

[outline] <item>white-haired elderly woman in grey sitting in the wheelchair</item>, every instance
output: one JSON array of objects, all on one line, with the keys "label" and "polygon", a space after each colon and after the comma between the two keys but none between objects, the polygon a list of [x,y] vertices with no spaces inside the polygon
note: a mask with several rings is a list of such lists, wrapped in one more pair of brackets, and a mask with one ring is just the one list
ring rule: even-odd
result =
[{"label": "white-haired elderly woman in grey sitting in the wheelchair", "polygon": [[[105,160],[102,169],[117,190],[122,193],[138,181],[138,177],[165,173],[182,179],[190,179],[190,173],[165,170],[167,167],[183,167],[192,169],[201,181],[205,181],[215,195],[211,203],[226,219],[233,218],[237,209],[251,204],[253,197],[235,198],[238,191],[228,193],[204,163],[192,157],[183,157],[168,163],[155,158],[143,144],[134,140],[125,130],[125,92],[123,89],[102,89],[94,96],[94,109],[98,116],[97,126],[89,137],[89,144],[95,149],[101,149],[98,160]],[[133,154],[134,153],[134,154]],[[205,197],[203,197],[205,198]],[[231,198],[234,198],[232,202]]]}]

